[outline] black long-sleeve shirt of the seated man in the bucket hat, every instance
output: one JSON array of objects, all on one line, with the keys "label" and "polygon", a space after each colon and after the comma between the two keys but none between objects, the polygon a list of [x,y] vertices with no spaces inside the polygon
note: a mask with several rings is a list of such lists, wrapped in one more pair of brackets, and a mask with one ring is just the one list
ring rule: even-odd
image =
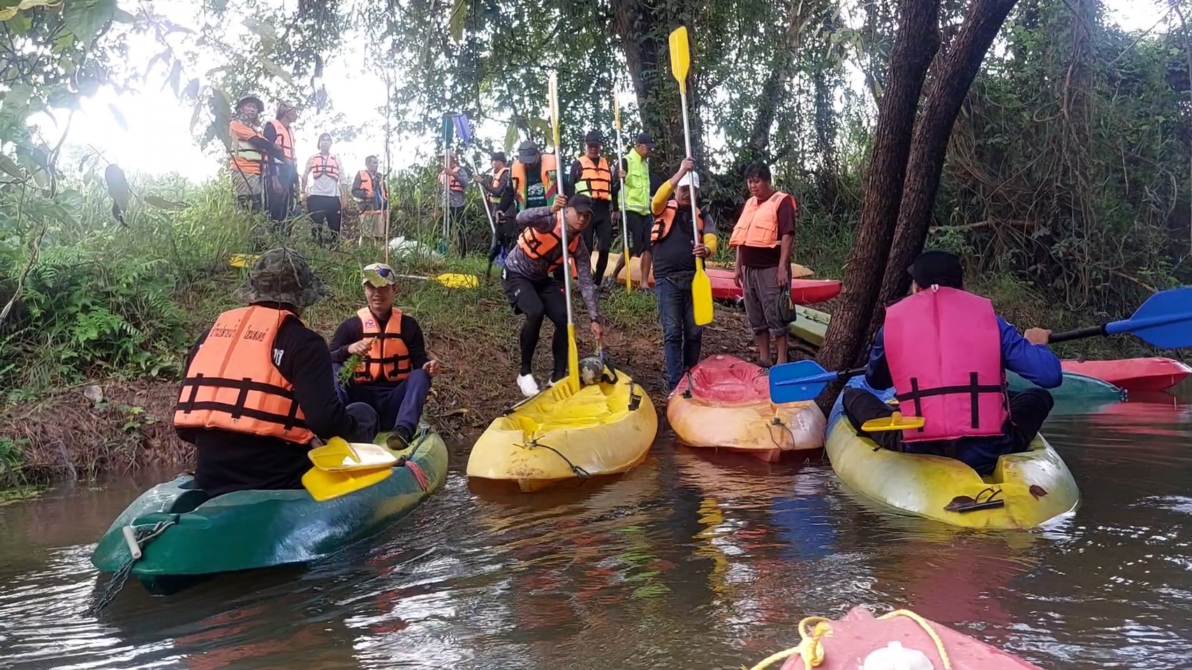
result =
[{"label": "black long-sleeve shirt of the seated man in the bucket hat", "polygon": [[[277,306],[269,304],[266,306]],[[293,309],[283,306],[283,309]],[[206,330],[191,347],[191,367]],[[293,385],[294,399],[306,427],[327,440],[359,432],[356,420],[335,395],[331,356],[323,336],[294,318],[287,318],[273,342],[278,372]],[[279,489],[292,485],[310,470],[310,445],[294,445],[277,438],[261,438],[230,430],[176,428],[178,436],[198,449],[195,477],[199,486],[216,496],[238,489]]]}]

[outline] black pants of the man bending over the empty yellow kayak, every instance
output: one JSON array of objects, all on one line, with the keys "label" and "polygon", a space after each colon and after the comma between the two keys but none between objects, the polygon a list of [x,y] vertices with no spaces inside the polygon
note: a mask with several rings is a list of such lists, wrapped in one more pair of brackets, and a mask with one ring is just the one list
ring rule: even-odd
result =
[{"label": "black pants of the man bending over the empty yellow kayak", "polygon": [[521,330],[521,374],[530,373],[538,336],[542,330],[542,317],[547,317],[554,324],[554,337],[551,340],[554,367],[551,379],[563,379],[567,376],[567,298],[563,293],[563,283],[553,277],[530,279],[508,269],[504,283],[505,297],[513,305],[514,314],[526,315]]}]

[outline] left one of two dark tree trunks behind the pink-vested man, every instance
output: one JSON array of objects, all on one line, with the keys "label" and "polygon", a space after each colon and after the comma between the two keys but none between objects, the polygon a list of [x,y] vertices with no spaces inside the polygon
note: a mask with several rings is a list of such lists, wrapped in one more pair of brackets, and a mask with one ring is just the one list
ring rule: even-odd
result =
[{"label": "left one of two dark tree trunks behind the pink-vested man", "polygon": [[[938,49],[939,0],[905,0],[889,76],[877,107],[877,131],[865,178],[861,225],[849,253],[839,306],[817,356],[827,370],[844,370],[861,360],[863,339],[877,303],[898,223],[898,204],[902,199],[902,179],[923,80]],[[839,389],[840,384],[832,384],[820,395],[824,414]]]}]

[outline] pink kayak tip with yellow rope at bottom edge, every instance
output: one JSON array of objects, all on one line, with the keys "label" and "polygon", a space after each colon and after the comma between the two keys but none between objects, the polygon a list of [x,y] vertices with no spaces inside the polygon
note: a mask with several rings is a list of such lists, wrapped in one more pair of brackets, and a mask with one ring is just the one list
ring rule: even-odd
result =
[{"label": "pink kayak tip with yellow rope at bottom edge", "polygon": [[[926,619],[924,621],[943,643],[952,670],[1039,670],[1037,665],[1010,656],[946,626]],[[822,645],[824,662],[815,666],[817,670],[857,670],[863,666],[870,653],[914,655],[915,652],[911,650],[917,650],[926,656],[936,670],[945,668],[931,635],[909,616],[898,615],[879,619],[863,607],[855,607],[844,619],[828,621],[827,627],[831,628],[831,632],[819,638]],[[898,643],[902,649],[889,649],[892,643]],[[898,668],[896,664],[886,666]],[[787,658],[781,670],[811,669],[803,665],[803,659],[796,652]]]}]

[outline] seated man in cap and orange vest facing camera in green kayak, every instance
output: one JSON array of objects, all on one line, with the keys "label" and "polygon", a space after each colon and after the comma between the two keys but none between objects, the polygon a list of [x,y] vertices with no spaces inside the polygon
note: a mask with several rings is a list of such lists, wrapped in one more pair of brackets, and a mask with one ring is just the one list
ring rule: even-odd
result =
[{"label": "seated man in cap and orange vest facing camera in green kayak", "polygon": [[366,266],[361,284],[368,305],[335,330],[331,362],[339,376],[339,366],[348,358],[364,356],[342,397],[377,410],[380,429],[390,432],[386,445],[399,451],[410,446],[430,392],[430,378],[439,374],[440,364],[427,355],[418,322],[393,308],[393,268]]}]

